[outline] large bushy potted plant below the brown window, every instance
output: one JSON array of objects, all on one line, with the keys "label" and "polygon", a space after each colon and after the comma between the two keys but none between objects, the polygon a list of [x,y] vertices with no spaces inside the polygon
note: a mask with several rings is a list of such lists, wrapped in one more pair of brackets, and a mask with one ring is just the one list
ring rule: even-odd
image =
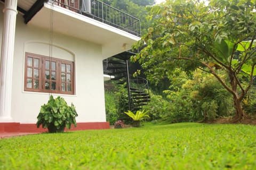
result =
[{"label": "large bushy potted plant below the brown window", "polygon": [[70,129],[71,124],[76,127],[77,116],[73,103],[68,106],[62,97],[58,96],[54,99],[51,95],[48,103],[41,106],[36,125],[37,128],[42,125],[50,133],[63,132],[65,127]]}]

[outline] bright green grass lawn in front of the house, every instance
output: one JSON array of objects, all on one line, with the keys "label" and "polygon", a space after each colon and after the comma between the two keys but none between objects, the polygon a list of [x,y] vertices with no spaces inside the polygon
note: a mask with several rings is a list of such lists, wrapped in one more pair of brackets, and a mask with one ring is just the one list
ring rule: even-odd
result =
[{"label": "bright green grass lawn in front of the house", "polygon": [[0,169],[256,169],[256,126],[179,123],[0,140]]}]

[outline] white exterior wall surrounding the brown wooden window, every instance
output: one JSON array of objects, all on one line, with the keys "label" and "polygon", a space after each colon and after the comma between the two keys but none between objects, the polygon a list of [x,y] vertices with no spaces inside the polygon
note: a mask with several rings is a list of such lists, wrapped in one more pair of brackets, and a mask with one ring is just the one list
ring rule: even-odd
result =
[{"label": "white exterior wall surrounding the brown wooden window", "polygon": [[[0,15],[0,35],[2,21]],[[49,30],[40,29],[24,24],[22,15],[17,15],[11,108],[14,122],[36,123],[41,105],[49,99],[47,93],[24,91],[25,53],[49,56],[49,44],[50,23]],[[53,96],[62,96],[76,106],[77,122],[106,122],[101,46],[55,32],[53,45],[52,57],[73,60],[75,65],[75,95]]]}]

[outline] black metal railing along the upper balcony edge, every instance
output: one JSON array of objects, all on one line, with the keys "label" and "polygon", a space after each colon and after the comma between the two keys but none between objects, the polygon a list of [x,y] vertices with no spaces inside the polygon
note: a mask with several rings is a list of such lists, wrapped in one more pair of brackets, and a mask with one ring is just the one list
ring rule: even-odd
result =
[{"label": "black metal railing along the upper balcony edge", "polygon": [[49,0],[55,5],[140,37],[140,20],[98,0]]}]

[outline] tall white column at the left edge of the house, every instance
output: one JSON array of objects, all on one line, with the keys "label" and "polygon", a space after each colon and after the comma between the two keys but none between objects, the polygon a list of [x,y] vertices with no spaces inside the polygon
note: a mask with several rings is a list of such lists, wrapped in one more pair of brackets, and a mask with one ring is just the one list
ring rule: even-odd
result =
[{"label": "tall white column at the left edge of the house", "polygon": [[12,67],[17,0],[5,0],[0,72],[0,122],[12,122]]}]

